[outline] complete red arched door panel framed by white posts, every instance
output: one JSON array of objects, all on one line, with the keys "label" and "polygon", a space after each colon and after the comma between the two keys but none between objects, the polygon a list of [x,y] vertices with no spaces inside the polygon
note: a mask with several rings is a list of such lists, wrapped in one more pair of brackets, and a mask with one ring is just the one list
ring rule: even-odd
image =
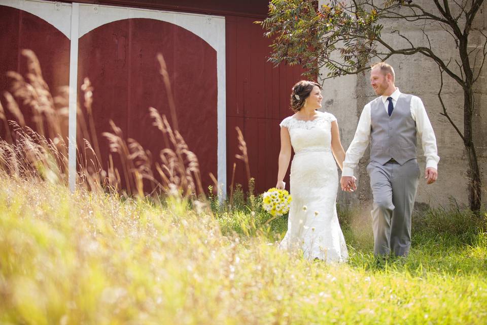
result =
[{"label": "complete red arched door panel framed by white posts", "polygon": [[[158,52],[167,64],[179,131],[198,157],[207,186],[212,184],[209,173],[217,174],[216,51],[187,29],[160,20],[118,20],[79,40],[78,87],[84,77],[90,78],[101,161],[107,168],[109,142],[102,133],[111,131],[109,121],[113,120],[125,139],[135,139],[152,153],[153,161],[160,162],[165,144],[162,133],[152,125],[149,107],[166,115],[169,122],[171,114]],[[113,157],[122,172],[118,155]]]}]

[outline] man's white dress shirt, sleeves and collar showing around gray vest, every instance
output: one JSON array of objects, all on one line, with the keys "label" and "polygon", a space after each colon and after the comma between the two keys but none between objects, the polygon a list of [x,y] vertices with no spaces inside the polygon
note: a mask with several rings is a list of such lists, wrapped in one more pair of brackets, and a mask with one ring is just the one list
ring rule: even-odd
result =
[{"label": "man's white dress shirt, sleeves and collar showing around gray vest", "polygon": [[[392,104],[396,107],[396,102],[401,92],[399,88],[396,88],[390,96],[382,95],[382,103],[384,103],[384,109],[387,112],[388,109],[388,97],[392,98]],[[411,98],[411,117],[416,121],[416,133],[421,138],[421,144],[426,157],[426,168],[433,167],[438,170],[438,149],[436,147],[436,137],[433,132],[428,115],[426,114],[425,106],[418,96],[412,96]],[[346,150],[345,160],[343,161],[342,176],[354,176],[354,169],[359,163],[359,159],[364,154],[365,149],[369,145],[370,141],[370,103],[364,106],[364,110],[360,115],[359,124],[357,125],[357,131],[355,132],[354,140],[350,144],[350,147]]]}]

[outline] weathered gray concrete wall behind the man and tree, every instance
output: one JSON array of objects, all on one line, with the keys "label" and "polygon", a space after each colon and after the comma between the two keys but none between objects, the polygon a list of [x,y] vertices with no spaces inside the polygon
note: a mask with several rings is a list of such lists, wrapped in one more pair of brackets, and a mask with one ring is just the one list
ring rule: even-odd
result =
[{"label": "weathered gray concrete wall behind the man and tree", "polygon": [[[320,1],[320,5],[324,1]],[[415,1],[427,10],[436,13],[436,8],[429,0]],[[455,6],[453,2],[450,2]],[[439,13],[438,13],[439,15]],[[477,14],[474,26],[485,31],[487,7],[482,6]],[[400,30],[401,35],[409,38],[415,46],[428,46],[428,39],[424,36],[421,27],[423,23],[405,23],[404,21],[385,21],[382,37],[388,40],[395,48],[407,47],[406,41],[399,37],[394,30]],[[425,29],[429,36],[432,49],[446,62],[451,58],[450,67],[456,72],[455,59],[458,59],[458,49],[454,39],[449,36],[439,25],[433,24]],[[471,48],[483,47],[485,39],[479,32],[473,31],[470,37]],[[479,67],[477,58],[476,66]],[[374,61],[375,62],[375,61]],[[372,63],[372,62],[371,62]],[[426,185],[423,179],[425,158],[421,141],[418,141],[418,161],[422,170],[422,179],[416,196],[416,208],[424,208],[426,205],[448,206],[451,199],[455,199],[462,205],[468,205],[467,197],[467,170],[468,160],[463,142],[448,120],[442,116],[442,108],[438,99],[440,87],[440,73],[436,63],[428,57],[415,54],[411,56],[397,55],[388,60],[396,71],[396,86],[404,93],[419,96],[426,107],[428,116],[433,125],[438,144],[438,154],[441,158],[438,173],[438,181]],[[473,55],[472,62],[473,66]],[[323,74],[326,75],[326,71]],[[476,69],[478,73],[478,69]],[[475,87],[475,138],[479,167],[482,173],[482,203],[487,203],[487,69],[484,66]],[[451,118],[457,123],[463,133],[463,91],[460,85],[452,78],[443,74],[442,98]],[[373,100],[376,95],[369,84],[369,73],[354,76],[345,76],[337,79],[325,80],[323,89],[323,110],[334,114],[338,119],[343,147],[350,145],[359,116],[365,104]],[[358,190],[355,193],[339,191],[338,201],[342,204],[370,206],[372,196],[369,178],[365,171],[368,164],[369,150],[365,152],[356,170],[359,179]]]}]

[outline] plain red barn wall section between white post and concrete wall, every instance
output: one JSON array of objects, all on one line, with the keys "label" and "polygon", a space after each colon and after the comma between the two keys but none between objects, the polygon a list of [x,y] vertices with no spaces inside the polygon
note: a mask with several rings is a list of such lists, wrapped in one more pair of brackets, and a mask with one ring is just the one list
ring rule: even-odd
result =
[{"label": "plain red barn wall section between white post and concrete wall", "polygon": [[[292,115],[289,95],[292,86],[301,79],[297,67],[273,68],[267,62],[270,40],[262,36],[257,17],[225,16],[226,75],[227,75],[227,184],[247,188],[245,165],[235,158],[239,154],[238,126],[247,143],[250,174],[256,190],[263,192],[275,186],[277,158],[280,151],[279,123]],[[289,175],[286,176],[285,182]],[[289,186],[289,185],[288,185]]]}]

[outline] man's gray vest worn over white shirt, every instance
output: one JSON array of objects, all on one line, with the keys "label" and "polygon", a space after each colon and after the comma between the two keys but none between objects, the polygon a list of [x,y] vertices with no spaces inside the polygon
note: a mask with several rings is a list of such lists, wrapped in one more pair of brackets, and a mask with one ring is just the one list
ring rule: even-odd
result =
[{"label": "man's gray vest worn over white shirt", "polygon": [[384,165],[394,158],[403,165],[416,158],[416,122],[411,117],[411,98],[412,95],[401,93],[391,116],[382,97],[370,102],[370,161]]}]

